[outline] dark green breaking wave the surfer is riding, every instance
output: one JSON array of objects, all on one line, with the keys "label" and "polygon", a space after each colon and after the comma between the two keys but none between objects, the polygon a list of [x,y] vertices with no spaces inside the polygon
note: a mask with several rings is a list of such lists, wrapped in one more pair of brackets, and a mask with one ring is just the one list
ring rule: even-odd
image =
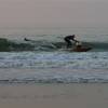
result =
[{"label": "dark green breaking wave the surfer is riding", "polygon": [[[108,51],[108,42],[82,42],[83,46],[92,48],[91,51]],[[75,46],[75,44],[73,44]],[[8,39],[0,39],[0,52],[12,51],[58,51],[65,49],[66,43],[64,41],[46,41],[46,40],[24,40],[9,41]]]}]

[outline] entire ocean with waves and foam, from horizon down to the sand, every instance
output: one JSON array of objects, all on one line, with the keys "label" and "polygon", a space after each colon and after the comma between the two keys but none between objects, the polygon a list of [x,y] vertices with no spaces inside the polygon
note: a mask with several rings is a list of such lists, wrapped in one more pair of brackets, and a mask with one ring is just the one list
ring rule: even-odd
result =
[{"label": "entire ocean with waves and foam, from horizon down to the sand", "polygon": [[[0,52],[0,83],[107,83],[107,27],[0,28],[1,38],[35,46]],[[64,37],[77,35],[89,52],[65,49]],[[25,41],[27,38],[31,41]]]}]

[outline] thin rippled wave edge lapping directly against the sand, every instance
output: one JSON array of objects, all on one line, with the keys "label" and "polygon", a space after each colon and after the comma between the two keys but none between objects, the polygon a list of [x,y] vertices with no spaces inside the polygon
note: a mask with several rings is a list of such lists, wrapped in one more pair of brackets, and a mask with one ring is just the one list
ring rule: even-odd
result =
[{"label": "thin rippled wave edge lapping directly against the sand", "polygon": [[84,78],[79,78],[79,79],[71,79],[68,81],[67,79],[46,79],[46,80],[35,80],[35,79],[29,79],[29,80],[18,80],[18,79],[12,79],[12,80],[0,80],[0,84],[12,84],[12,83],[108,83],[108,79],[84,79]]}]

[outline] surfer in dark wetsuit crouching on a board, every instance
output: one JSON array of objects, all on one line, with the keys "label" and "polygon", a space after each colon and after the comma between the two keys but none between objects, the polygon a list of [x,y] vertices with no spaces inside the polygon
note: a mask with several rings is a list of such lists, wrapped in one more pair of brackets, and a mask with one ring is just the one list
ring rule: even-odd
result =
[{"label": "surfer in dark wetsuit crouching on a board", "polygon": [[67,43],[67,49],[68,49],[68,48],[71,48],[71,45],[72,45],[71,40],[75,41],[75,42],[79,42],[79,41],[77,41],[75,38],[76,38],[76,35],[66,36],[66,37],[64,38],[65,42]]}]

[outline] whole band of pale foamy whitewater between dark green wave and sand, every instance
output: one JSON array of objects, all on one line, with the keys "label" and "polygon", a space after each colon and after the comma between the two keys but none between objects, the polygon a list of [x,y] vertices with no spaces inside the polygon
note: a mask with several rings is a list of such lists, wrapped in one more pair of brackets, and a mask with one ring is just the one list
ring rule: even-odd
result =
[{"label": "whole band of pale foamy whitewater between dark green wave and sand", "polygon": [[2,52],[0,83],[108,83],[108,52]]}]

